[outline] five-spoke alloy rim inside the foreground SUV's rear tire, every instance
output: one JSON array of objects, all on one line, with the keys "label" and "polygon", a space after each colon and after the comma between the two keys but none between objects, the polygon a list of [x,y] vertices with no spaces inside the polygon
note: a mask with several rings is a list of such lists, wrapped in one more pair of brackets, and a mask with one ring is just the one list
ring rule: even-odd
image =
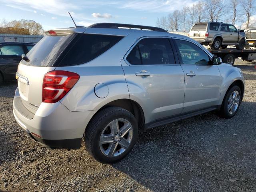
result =
[{"label": "five-spoke alloy rim inside the foreground SUV's rear tire", "polygon": [[110,122],[100,136],[100,150],[107,157],[122,154],[132,141],[132,124],[123,118]]}]

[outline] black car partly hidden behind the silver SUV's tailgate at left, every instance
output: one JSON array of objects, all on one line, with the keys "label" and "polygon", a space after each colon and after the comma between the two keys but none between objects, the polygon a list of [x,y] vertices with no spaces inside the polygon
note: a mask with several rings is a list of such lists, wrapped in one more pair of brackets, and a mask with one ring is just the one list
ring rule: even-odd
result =
[{"label": "black car partly hidden behind the silver SUV's tailgate at left", "polygon": [[0,42],[0,84],[15,80],[15,74],[22,54],[27,54],[34,43]]}]

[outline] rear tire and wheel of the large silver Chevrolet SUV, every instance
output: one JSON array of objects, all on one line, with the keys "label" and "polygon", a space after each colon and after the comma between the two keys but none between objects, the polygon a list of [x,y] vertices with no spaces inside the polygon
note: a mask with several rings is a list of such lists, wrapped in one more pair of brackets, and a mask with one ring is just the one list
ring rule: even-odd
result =
[{"label": "rear tire and wheel of the large silver Chevrolet SUV", "polygon": [[98,112],[85,131],[89,154],[102,163],[122,160],[132,150],[138,137],[138,123],[128,110],[109,107]]}]

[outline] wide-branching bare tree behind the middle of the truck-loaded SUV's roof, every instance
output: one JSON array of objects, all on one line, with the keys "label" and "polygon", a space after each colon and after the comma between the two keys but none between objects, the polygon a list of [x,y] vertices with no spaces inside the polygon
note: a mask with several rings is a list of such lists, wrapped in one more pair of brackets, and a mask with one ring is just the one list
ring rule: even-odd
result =
[{"label": "wide-branching bare tree behind the middle of the truck-loaded SUV's roof", "polygon": [[223,0],[206,0],[204,2],[206,18],[210,22],[218,22],[225,14],[225,6]]}]

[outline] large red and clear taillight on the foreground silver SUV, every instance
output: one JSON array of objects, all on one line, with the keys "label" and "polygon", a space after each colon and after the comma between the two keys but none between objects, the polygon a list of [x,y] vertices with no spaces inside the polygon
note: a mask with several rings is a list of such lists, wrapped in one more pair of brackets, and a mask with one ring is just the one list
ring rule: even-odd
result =
[{"label": "large red and clear taillight on the foreground silver SUV", "polygon": [[80,76],[69,71],[50,71],[44,75],[42,102],[61,100],[76,84]]}]

